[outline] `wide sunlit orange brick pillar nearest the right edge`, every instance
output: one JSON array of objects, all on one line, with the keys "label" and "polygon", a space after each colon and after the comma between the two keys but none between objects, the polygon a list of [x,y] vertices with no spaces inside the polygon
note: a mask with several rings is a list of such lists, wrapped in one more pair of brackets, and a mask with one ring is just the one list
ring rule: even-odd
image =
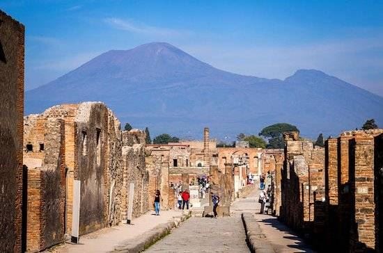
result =
[{"label": "wide sunlit orange brick pillar nearest the right edge", "polygon": [[350,250],[375,249],[374,139],[357,134],[350,141],[350,190],[354,206]]}]

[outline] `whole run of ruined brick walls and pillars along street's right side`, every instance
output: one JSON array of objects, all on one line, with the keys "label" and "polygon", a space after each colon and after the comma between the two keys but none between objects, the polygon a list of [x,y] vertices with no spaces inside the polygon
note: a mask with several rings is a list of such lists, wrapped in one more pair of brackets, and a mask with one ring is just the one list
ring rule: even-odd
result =
[{"label": "whole run of ruined brick walls and pillars along street's right side", "polygon": [[[281,217],[291,227],[304,229],[318,250],[380,250],[383,162],[377,153],[382,133],[383,129],[342,133],[326,140],[324,154],[297,136],[286,136]],[[294,195],[293,189],[300,191]],[[302,205],[302,217],[293,209],[297,205]]]}]

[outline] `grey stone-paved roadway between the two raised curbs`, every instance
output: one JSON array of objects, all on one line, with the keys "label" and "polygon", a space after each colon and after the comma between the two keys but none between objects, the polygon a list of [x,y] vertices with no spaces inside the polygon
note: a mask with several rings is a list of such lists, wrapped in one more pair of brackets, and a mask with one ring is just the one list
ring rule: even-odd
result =
[{"label": "grey stone-paved roadway between the two raised curbs", "polygon": [[190,218],[146,252],[249,252],[240,215]]}]

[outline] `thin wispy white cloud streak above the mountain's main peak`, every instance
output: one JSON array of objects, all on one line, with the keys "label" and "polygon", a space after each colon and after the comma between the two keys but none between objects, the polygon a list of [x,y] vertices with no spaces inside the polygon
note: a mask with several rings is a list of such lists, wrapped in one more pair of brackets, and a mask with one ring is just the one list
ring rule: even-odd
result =
[{"label": "thin wispy white cloud streak above the mountain's main peak", "polygon": [[116,17],[106,18],[104,19],[104,22],[116,29],[130,31],[132,33],[139,33],[142,35],[180,36],[189,33],[187,31],[178,31],[170,28],[148,26],[146,24],[134,24],[134,22],[118,19]]}]

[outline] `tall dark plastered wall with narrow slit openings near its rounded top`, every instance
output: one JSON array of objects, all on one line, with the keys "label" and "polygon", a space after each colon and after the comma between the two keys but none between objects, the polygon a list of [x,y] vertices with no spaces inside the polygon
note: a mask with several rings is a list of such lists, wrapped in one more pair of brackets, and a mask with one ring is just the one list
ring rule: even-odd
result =
[{"label": "tall dark plastered wall with narrow slit openings near its rounded top", "polygon": [[107,141],[108,111],[103,104],[79,104],[77,115],[77,164],[75,179],[80,186],[80,234],[107,225],[108,190]]}]

